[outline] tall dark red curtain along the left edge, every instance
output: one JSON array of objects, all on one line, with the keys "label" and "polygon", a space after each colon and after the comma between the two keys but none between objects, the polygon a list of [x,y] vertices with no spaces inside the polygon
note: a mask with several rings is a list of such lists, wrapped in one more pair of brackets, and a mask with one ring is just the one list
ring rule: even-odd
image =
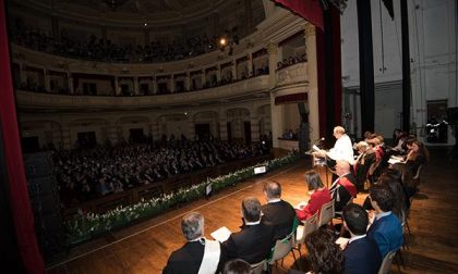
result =
[{"label": "tall dark red curtain along the left edge", "polygon": [[[34,215],[28,199],[13,85],[11,80],[4,1],[0,0],[0,122],[10,187],[11,213],[19,250],[27,273],[45,273],[45,264],[35,237]],[[1,222],[1,220],[0,220]]]}]

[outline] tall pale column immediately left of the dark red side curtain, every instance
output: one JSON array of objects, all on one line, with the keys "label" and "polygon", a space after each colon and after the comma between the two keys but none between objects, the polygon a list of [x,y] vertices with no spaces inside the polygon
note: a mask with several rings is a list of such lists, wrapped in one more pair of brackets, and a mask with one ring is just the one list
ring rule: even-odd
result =
[{"label": "tall pale column immediately left of the dark red side curtain", "polygon": [[318,70],[316,62],[316,34],[315,27],[308,23],[305,26],[305,52],[308,57],[309,79],[309,124],[311,127],[310,139],[320,139],[320,112],[318,112]]}]

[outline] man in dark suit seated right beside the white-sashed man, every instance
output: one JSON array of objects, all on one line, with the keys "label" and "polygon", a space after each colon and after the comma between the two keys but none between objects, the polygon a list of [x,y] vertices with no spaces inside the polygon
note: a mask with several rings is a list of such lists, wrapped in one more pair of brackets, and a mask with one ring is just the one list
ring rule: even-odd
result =
[{"label": "man in dark suit seated right beside the white-sashed man", "polygon": [[245,224],[222,245],[228,259],[242,259],[250,264],[267,259],[274,247],[274,226],[261,222],[261,202],[254,197],[242,201]]}]

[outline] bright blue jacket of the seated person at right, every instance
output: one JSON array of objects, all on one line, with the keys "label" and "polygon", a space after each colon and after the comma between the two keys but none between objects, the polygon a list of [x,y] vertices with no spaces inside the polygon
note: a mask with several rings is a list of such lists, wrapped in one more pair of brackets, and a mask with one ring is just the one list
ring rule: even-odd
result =
[{"label": "bright blue jacket of the seated person at right", "polygon": [[401,247],[403,240],[401,223],[393,213],[376,219],[369,227],[367,237],[377,242],[383,259],[389,251]]}]

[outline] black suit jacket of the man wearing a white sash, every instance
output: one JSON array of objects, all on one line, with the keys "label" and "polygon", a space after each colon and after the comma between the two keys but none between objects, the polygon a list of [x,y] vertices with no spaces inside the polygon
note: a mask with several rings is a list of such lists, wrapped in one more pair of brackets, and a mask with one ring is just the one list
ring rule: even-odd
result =
[{"label": "black suit jacket of the man wearing a white sash", "polygon": [[[205,246],[200,241],[188,241],[180,249],[173,251],[162,270],[164,274],[186,274],[198,273],[202,259],[204,258]],[[219,256],[218,271],[225,266],[226,254],[221,246],[221,253]]]}]

